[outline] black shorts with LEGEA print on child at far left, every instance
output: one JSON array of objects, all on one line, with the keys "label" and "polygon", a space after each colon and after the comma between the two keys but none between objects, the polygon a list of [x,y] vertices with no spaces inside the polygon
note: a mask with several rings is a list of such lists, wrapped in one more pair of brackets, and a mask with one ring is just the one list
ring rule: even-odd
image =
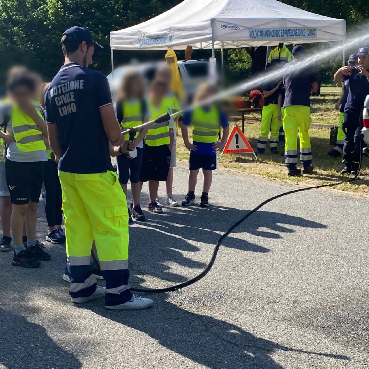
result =
[{"label": "black shorts with LEGEA print on child at far left", "polygon": [[5,161],[6,182],[12,204],[38,203],[44,182],[45,162]]}]

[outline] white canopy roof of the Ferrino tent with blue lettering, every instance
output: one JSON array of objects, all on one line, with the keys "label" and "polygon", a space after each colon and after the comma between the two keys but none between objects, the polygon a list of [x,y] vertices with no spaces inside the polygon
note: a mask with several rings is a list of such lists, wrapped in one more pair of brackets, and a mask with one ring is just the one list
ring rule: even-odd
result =
[{"label": "white canopy roof of the Ferrino tent with blue lettering", "polygon": [[110,32],[113,50],[237,48],[343,41],[346,21],[276,0],[184,0],[148,21]]}]

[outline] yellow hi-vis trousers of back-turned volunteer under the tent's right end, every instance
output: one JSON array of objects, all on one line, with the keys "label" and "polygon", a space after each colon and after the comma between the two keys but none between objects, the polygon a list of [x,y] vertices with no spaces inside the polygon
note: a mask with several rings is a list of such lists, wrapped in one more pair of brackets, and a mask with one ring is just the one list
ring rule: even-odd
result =
[{"label": "yellow hi-vis trousers of back-turned volunteer under the tent's right end", "polygon": [[300,138],[300,161],[304,167],[311,165],[311,144],[308,130],[311,125],[310,107],[290,105],[284,108],[283,129],[284,162],[287,168],[294,169],[297,164],[297,133]]}]

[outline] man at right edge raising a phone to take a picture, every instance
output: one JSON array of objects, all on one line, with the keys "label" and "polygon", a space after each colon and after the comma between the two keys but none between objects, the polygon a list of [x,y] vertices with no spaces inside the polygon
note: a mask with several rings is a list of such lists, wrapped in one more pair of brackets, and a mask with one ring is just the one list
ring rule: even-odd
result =
[{"label": "man at right edge raising a phone to take a picture", "polygon": [[356,175],[362,157],[361,148],[364,142],[361,138],[360,115],[365,97],[369,94],[369,48],[358,50],[357,68],[344,66],[339,68],[333,77],[334,83],[349,81],[349,92],[344,109],[342,130],[345,132],[344,169],[341,174]]}]

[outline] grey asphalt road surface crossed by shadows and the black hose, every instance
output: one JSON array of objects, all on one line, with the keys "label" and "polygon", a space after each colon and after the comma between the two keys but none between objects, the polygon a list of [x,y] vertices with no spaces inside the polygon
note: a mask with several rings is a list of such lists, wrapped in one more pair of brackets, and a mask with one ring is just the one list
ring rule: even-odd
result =
[{"label": "grey asphalt road surface crossed by shadows and the black hose", "polygon": [[[165,208],[130,226],[131,284],[193,277],[223,232],[287,189],[217,170],[210,208]],[[173,192],[182,200],[186,190],[181,165]],[[38,269],[1,253],[0,368],[369,368],[368,219],[368,201],[345,194],[277,199],[224,240],[204,279],[152,295],[142,311],[106,310],[103,299],[73,305],[63,246],[46,243],[52,259]]]}]

